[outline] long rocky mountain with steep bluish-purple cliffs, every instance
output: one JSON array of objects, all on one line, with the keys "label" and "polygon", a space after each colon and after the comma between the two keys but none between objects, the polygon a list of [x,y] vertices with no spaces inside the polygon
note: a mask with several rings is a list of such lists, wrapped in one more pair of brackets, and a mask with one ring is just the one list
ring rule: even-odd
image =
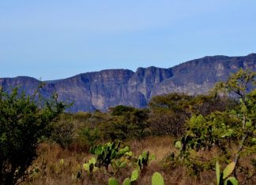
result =
[{"label": "long rocky mountain with steep bluish-purple cliffs", "polygon": [[[93,111],[115,105],[145,107],[152,96],[183,92],[201,94],[209,91],[217,81],[224,81],[239,68],[256,71],[256,54],[244,57],[202,57],[172,68],[111,69],[86,72],[63,80],[45,81],[41,94],[57,93],[58,98],[74,102],[70,112]],[[40,81],[27,76],[0,78],[5,91],[20,87],[32,94]]]}]

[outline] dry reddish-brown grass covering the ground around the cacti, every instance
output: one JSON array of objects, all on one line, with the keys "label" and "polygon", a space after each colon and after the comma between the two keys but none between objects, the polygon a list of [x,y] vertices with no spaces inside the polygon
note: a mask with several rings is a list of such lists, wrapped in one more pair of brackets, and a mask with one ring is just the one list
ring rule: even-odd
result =
[{"label": "dry reddish-brown grass covering the ground around the cacti", "polygon": [[[182,166],[164,166],[161,161],[168,157],[171,152],[176,152],[173,147],[174,139],[170,136],[165,137],[149,137],[142,140],[129,141],[126,144],[130,146],[134,152],[134,156],[138,156],[144,150],[149,150],[149,154],[155,154],[156,160],[152,161],[143,172],[136,184],[151,184],[151,176],[153,172],[160,172],[164,176],[165,184],[215,184],[215,172],[201,172],[200,176],[190,176],[190,172]],[[107,184],[107,180],[111,177],[109,172],[104,168],[93,174],[92,178],[82,169],[82,164],[88,161],[90,154],[81,150],[62,150],[58,145],[41,144],[38,149],[39,157],[34,162],[33,166],[40,169],[38,176],[30,176],[23,184]],[[199,156],[210,158],[217,154],[217,150],[211,152],[198,153]],[[254,156],[255,157],[255,156]],[[251,157],[249,157],[251,158]],[[61,165],[60,161],[64,160]],[[249,159],[244,159],[242,163],[248,163]],[[115,174],[122,184],[123,179],[129,177],[134,168],[125,168]],[[77,180],[77,172],[81,172],[81,179]],[[247,184],[254,184],[248,182]]]}]

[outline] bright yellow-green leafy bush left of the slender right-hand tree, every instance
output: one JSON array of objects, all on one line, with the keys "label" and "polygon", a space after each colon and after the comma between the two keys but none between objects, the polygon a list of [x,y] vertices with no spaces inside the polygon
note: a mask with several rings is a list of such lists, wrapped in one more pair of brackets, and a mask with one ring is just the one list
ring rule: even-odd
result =
[{"label": "bright yellow-green leafy bush left of the slender right-hand tree", "polygon": [[187,124],[186,135],[181,142],[183,150],[210,150],[218,146],[224,153],[231,142],[239,142],[241,129],[239,119],[229,113],[216,112],[207,117],[202,115],[193,116]]}]

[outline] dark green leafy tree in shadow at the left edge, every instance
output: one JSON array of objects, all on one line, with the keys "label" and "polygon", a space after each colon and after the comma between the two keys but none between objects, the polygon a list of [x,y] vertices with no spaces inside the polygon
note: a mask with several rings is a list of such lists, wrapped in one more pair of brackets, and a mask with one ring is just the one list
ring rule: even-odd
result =
[{"label": "dark green leafy tree in shadow at the left edge", "polygon": [[25,178],[40,139],[51,134],[51,125],[66,108],[57,99],[53,95],[39,103],[36,94],[27,96],[17,88],[11,94],[0,90],[0,184]]}]

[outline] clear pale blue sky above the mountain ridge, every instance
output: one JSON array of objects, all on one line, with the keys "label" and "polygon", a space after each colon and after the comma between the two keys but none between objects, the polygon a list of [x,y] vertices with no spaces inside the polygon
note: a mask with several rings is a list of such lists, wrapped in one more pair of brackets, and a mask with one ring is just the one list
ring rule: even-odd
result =
[{"label": "clear pale blue sky above the mountain ridge", "polygon": [[255,52],[255,0],[0,1],[1,77],[54,80]]}]

